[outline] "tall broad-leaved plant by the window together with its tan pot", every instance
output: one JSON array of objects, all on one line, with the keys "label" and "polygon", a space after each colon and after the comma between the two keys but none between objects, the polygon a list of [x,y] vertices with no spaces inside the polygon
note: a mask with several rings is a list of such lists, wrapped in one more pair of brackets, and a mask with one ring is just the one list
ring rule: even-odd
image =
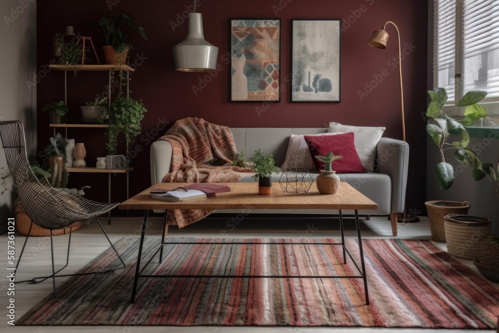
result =
[{"label": "tall broad-leaved plant by the window together with its tan pot", "polygon": [[[454,149],[454,157],[460,161],[468,161],[480,170],[484,168],[479,165],[477,155],[467,148],[470,143],[470,134],[465,126],[470,126],[477,119],[487,116],[485,107],[478,104],[487,95],[486,91],[473,90],[467,92],[456,104],[455,107],[466,106],[465,118],[457,121],[443,111],[443,107],[447,102],[447,92],[444,88],[436,88],[428,91],[431,102],[428,105],[426,116],[429,118],[426,126],[426,131],[432,137],[433,141],[439,148],[442,162],[438,163],[435,169],[435,176],[438,186],[443,189],[449,189],[454,182],[454,168],[445,160],[444,152]],[[449,131],[456,130],[461,136],[459,141],[449,143]],[[485,175],[484,175],[485,176]],[[483,178],[483,177],[482,177]],[[439,242],[445,242],[444,216],[447,214],[467,214],[470,208],[470,203],[455,202],[455,201],[427,201],[425,206],[428,209],[428,218],[430,219],[430,228],[432,238]]]}]

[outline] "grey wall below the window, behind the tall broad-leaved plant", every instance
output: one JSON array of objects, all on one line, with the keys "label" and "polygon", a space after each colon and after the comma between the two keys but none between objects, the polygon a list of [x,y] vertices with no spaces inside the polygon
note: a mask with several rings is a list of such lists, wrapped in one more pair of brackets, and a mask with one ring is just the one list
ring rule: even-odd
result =
[{"label": "grey wall below the window, behind the tall broad-leaved plant", "polygon": [[[458,135],[451,135],[448,142],[458,139]],[[464,165],[453,156],[454,149],[451,149],[446,152],[445,159],[447,163],[454,166],[454,184],[449,190],[441,190],[435,177],[435,166],[442,161],[440,152],[430,136],[428,136],[427,145],[427,200],[469,201],[471,208],[468,214],[490,217],[493,234],[499,234],[499,199],[488,179],[478,182],[473,180],[472,167],[463,168]],[[481,162],[493,163],[497,172],[499,137],[493,137],[493,139],[472,137],[468,148],[477,153]]]}]

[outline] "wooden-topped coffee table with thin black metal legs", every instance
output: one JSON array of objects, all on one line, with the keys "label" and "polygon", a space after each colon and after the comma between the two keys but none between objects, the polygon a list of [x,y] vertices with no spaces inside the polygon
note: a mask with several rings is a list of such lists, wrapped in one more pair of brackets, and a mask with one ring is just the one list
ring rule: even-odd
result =
[{"label": "wooden-topped coffee table with thin black metal legs", "polygon": [[[258,195],[258,188],[256,183],[221,183],[222,185],[227,185],[231,187],[231,192],[219,193],[214,198],[192,200],[186,202],[172,202],[164,201],[159,199],[152,199],[149,192],[154,188],[174,188],[177,186],[186,186],[189,183],[160,183],[151,186],[147,190],[142,191],[133,198],[120,204],[119,209],[138,209],[144,210],[144,220],[142,222],[142,233],[140,237],[139,253],[137,256],[137,267],[135,269],[135,279],[133,283],[132,299],[131,303],[135,302],[135,293],[137,290],[137,281],[139,278],[352,278],[352,279],[363,279],[364,280],[364,290],[366,297],[366,304],[369,305],[369,295],[367,292],[367,279],[366,271],[364,265],[364,252],[362,250],[362,242],[360,235],[360,223],[359,223],[359,209],[375,210],[378,205],[364,196],[362,193],[354,189],[348,183],[341,183],[340,189],[335,194],[320,194],[315,185],[308,193],[283,193],[279,184],[274,183],[272,185],[271,195]],[[346,264],[346,254],[350,257],[355,267],[357,268],[360,275],[358,276],[180,276],[180,275],[141,275],[147,265],[151,262],[158,252],[160,252],[160,262],[163,257],[163,246],[165,244],[179,244],[165,242],[165,232],[163,232],[163,241],[158,250],[154,253],[151,259],[144,265],[142,270],[140,270],[140,260],[142,256],[142,247],[144,245],[144,236],[147,225],[147,217],[149,210],[151,209],[165,209],[164,217],[164,227],[166,228],[166,219],[168,215],[168,210],[170,209],[245,209],[245,210],[257,210],[257,209],[330,209],[339,211],[340,220],[340,231],[341,231],[341,243],[331,243],[331,245],[341,245],[343,248],[343,264]],[[355,211],[355,226],[357,228],[357,237],[359,241],[359,251],[360,251],[360,268],[353,260],[352,256],[345,247],[345,239],[343,234],[343,217],[341,214],[342,210],[354,210]],[[184,243],[180,243],[184,244]],[[187,243],[187,244],[197,244],[197,243]],[[203,243],[207,244],[207,243]],[[216,244],[246,244],[246,243],[216,243]],[[269,243],[258,243],[258,244],[269,244]],[[275,244],[275,243],[272,243]],[[280,243],[286,244],[286,243]],[[310,243],[315,245],[321,245],[317,243]]]}]

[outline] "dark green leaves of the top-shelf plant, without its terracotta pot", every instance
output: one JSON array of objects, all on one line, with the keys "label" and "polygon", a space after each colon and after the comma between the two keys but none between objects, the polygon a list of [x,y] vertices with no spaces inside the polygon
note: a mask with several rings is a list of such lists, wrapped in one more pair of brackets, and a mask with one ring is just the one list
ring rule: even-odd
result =
[{"label": "dark green leaves of the top-shelf plant, without its terracotta pot", "polygon": [[[122,14],[120,15],[120,12]],[[123,24],[128,27],[128,31],[126,33],[123,32]],[[95,26],[95,23],[92,25]],[[123,11],[118,10],[113,19],[109,19],[107,17],[101,17],[99,20],[99,25],[104,30],[104,38],[106,41],[106,45],[111,45],[114,49],[119,52],[119,47],[124,43],[125,38],[128,36],[130,32],[137,29],[139,34],[144,40],[147,40],[146,32],[142,26],[137,26],[132,19],[132,16]]]}]

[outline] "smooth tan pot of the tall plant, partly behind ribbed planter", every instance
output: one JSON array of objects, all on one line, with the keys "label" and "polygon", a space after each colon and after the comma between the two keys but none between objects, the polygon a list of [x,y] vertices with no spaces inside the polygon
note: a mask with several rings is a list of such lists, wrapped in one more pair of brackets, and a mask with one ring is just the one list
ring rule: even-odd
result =
[{"label": "smooth tan pot of the tall plant, partly behind ribbed planter", "polygon": [[444,216],[449,214],[468,214],[471,204],[468,201],[427,201],[425,202],[430,219],[432,239],[445,243]]}]

